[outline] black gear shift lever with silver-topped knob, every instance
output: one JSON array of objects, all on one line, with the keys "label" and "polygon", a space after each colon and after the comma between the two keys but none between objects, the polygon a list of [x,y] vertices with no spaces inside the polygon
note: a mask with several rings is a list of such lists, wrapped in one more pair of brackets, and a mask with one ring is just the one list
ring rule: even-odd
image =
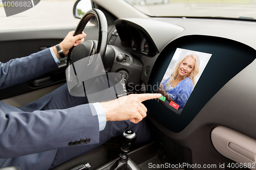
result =
[{"label": "black gear shift lever with silver-topped knob", "polygon": [[136,133],[132,130],[126,130],[123,132],[122,136],[122,153],[119,155],[119,159],[113,164],[111,170],[126,170],[127,169],[127,161],[128,155],[131,145],[137,139]]}]

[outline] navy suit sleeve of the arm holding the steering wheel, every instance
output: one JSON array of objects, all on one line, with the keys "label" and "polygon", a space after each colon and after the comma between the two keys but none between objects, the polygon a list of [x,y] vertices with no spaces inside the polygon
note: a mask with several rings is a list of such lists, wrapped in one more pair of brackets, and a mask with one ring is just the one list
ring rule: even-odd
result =
[{"label": "navy suit sleeve of the arm holding the steering wheel", "polygon": [[57,68],[49,48],[7,63],[0,62],[0,89],[24,83]]}]

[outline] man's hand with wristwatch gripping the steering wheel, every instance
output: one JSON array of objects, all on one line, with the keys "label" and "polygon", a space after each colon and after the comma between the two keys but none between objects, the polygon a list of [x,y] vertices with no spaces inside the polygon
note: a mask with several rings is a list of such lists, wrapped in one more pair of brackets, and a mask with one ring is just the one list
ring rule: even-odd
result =
[{"label": "man's hand with wristwatch gripping the steering wheel", "polygon": [[[84,37],[86,37],[86,33],[84,33],[84,32],[82,32],[82,34],[78,34],[76,36],[73,36],[74,33],[75,33],[75,31],[69,32],[68,35],[59,43],[59,46],[65,55],[68,55],[69,50],[72,46],[76,46],[79,43],[83,42]],[[53,48],[53,51],[54,51],[56,57],[59,59],[60,56],[57,52],[56,47],[53,46],[52,48]]]}]

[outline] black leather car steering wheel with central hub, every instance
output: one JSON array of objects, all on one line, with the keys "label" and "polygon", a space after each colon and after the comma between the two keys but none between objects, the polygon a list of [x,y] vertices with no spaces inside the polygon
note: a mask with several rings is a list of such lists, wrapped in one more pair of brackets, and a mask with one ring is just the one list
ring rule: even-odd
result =
[{"label": "black leather car steering wheel with central hub", "polygon": [[[86,14],[84,14],[77,25],[74,36],[81,34],[84,27],[86,27],[88,21],[94,16],[96,17],[98,22],[98,29],[99,29],[98,42],[95,40],[87,40],[87,41],[81,42],[77,46],[75,47],[73,46],[70,49],[68,54],[68,60],[67,60],[68,69],[66,70],[66,77],[67,77],[69,92],[71,95],[74,95],[74,96],[86,96],[86,89],[89,89],[97,78],[95,76],[94,68],[103,67],[103,65],[102,67],[99,67],[100,62],[97,61],[98,59],[100,60],[101,58],[102,63],[104,62],[104,56],[105,56],[106,45],[108,40],[108,23],[106,21],[106,17],[103,14],[103,12],[101,12],[98,9],[91,9]],[[99,54],[100,58],[98,57],[95,58],[94,54]],[[91,56],[91,57],[86,59],[86,57],[88,56]],[[86,59],[86,60],[83,60],[78,63],[76,62],[81,59]],[[111,60],[105,61],[105,63],[108,63],[109,61]],[[75,64],[79,65],[78,68],[77,67],[75,68],[74,66]],[[80,71],[83,71],[82,74]],[[79,74],[79,72],[80,72],[81,79],[79,78],[79,76],[77,76],[77,73]],[[79,81],[79,80],[82,80],[82,81]],[[87,81],[87,82],[85,83],[84,81]]]}]

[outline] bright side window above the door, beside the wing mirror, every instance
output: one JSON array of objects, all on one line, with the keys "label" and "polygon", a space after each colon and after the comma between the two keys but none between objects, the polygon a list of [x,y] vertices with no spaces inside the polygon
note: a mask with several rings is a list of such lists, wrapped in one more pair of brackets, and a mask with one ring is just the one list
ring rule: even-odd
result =
[{"label": "bright side window above the door, beside the wing mirror", "polygon": [[[10,0],[6,0],[10,1]],[[76,0],[41,0],[27,11],[6,17],[4,0],[0,0],[0,30],[76,27],[79,19],[73,16]],[[91,9],[90,1],[79,2],[79,15]],[[78,13],[78,10],[76,11]],[[88,26],[94,26],[88,23]]]}]

